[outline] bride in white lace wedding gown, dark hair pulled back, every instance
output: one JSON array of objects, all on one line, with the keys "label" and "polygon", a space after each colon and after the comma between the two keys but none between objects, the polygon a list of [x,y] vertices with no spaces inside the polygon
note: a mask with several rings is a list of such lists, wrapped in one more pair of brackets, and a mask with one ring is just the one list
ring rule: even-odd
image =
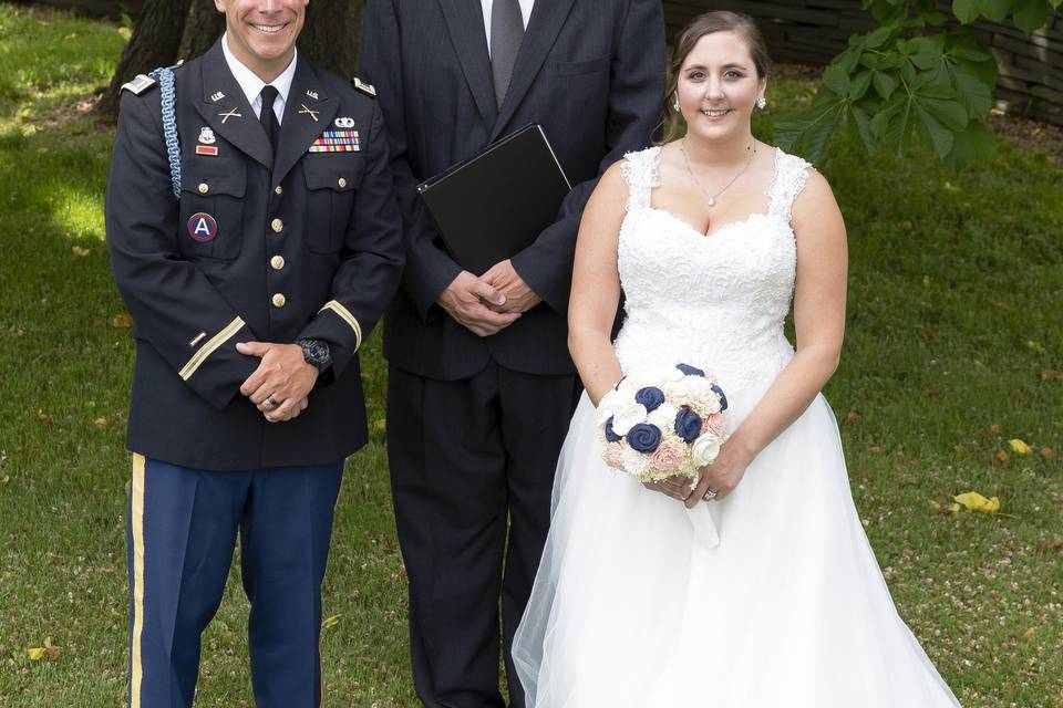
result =
[{"label": "bride in white lace wedding gown, dark hair pulled back", "polygon": [[[695,20],[672,66],[687,137],[628,155],[585,212],[569,320],[587,393],[513,649],[529,707],[959,705],[897,615],[853,506],[819,394],[842,347],[845,227],[826,180],[751,133],[766,65],[747,18]],[[679,362],[730,402],[731,438],[693,493],[610,469],[596,431],[625,371]],[[718,546],[684,503],[709,504]]]}]

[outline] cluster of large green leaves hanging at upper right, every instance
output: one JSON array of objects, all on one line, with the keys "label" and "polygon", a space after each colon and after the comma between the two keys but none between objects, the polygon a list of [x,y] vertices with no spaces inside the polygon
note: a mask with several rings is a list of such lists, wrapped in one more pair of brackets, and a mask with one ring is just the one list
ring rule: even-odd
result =
[{"label": "cluster of large green leaves hanging at upper right", "polygon": [[[1061,3],[952,0],[951,9],[962,24],[1011,18],[1029,33]],[[994,139],[984,119],[997,65],[978,35],[950,24],[933,0],[864,0],[864,7],[879,27],[849,38],[808,107],[776,125],[776,143],[819,163],[844,127],[868,154],[899,158],[918,140],[951,166],[988,157]]]}]

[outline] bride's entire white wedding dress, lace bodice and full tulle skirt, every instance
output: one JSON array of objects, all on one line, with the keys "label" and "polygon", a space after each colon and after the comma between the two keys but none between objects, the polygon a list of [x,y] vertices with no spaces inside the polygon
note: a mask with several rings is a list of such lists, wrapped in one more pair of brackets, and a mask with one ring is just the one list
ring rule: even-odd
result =
[{"label": "bride's entire white wedding dress, lace bodice and full tulle skirt", "polygon": [[[780,152],[770,214],[709,243],[721,237],[684,232],[649,206],[656,149],[629,156],[625,170],[618,358],[625,371],[703,366],[720,378],[733,430],[793,356],[782,334],[795,258],[788,206],[805,166]],[[597,436],[585,394],[514,643],[529,707],[959,705],[897,614],[822,396],[729,497],[706,502],[715,548],[681,502],[609,468]]]}]

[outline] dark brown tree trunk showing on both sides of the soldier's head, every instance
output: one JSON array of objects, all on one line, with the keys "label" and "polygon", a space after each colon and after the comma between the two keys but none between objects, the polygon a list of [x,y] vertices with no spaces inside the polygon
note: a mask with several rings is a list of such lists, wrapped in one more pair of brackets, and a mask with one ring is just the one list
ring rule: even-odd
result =
[{"label": "dark brown tree trunk showing on both sides of the soldier's head", "polygon": [[[364,7],[365,0],[312,0],[299,51],[323,69],[352,76]],[[97,110],[114,118],[122,84],[156,66],[199,56],[224,30],[225,15],[215,9],[214,0],[146,0]]]}]

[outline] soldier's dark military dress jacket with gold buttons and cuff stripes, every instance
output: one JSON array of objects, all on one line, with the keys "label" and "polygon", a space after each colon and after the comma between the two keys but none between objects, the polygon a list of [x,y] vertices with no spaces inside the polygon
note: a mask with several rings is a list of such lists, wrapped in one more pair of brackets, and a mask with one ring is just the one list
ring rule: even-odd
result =
[{"label": "soldier's dark military dress jacket with gold buttons and cuff stripes", "polygon": [[[380,107],[300,56],[274,155],[220,43],[175,74],[180,197],[157,85],[123,92],[107,185],[111,266],[135,322],[130,449],[218,470],[342,459],[367,440],[355,352],[403,260]],[[338,117],[359,149],[308,152]],[[333,381],[319,377],[298,418],[267,423],[239,394],[260,360],[236,343],[300,337],[329,343]]]}]

